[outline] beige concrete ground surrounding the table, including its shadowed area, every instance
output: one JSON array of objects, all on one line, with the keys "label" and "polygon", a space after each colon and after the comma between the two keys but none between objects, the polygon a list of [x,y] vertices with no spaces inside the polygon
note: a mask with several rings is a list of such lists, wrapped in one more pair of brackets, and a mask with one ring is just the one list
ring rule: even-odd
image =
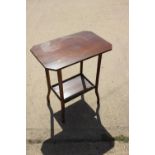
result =
[{"label": "beige concrete ground surrounding the table, including its shadowed area", "polygon": [[[96,109],[96,96],[94,91],[90,91],[85,94],[87,107],[80,108],[86,111],[74,112],[75,108],[72,108],[74,105],[83,106],[81,102],[77,102],[80,97],[66,105],[69,111],[66,118],[68,123],[62,126],[59,117],[55,117],[54,120],[50,117],[46,104],[44,69],[29,49],[34,44],[82,30],[93,31],[113,44],[113,50],[103,55],[101,64],[101,122],[90,110],[90,107],[94,111]],[[99,136],[100,133],[108,133],[113,137],[128,136],[128,0],[27,0],[26,51],[27,155],[129,154],[128,143],[116,141],[113,145],[107,142],[103,144]],[[92,58],[84,62],[85,75],[93,82],[96,60]],[[63,78],[70,77],[78,71],[79,64],[64,69]],[[51,80],[52,83],[57,82],[55,72],[51,72]],[[59,114],[60,103],[53,93],[51,107],[54,113]],[[79,116],[75,115],[76,113]],[[89,121],[85,122],[83,118]],[[76,124],[72,128],[74,122]],[[51,143],[52,140],[49,139],[51,127],[54,129],[54,137],[60,141],[56,144]]]}]

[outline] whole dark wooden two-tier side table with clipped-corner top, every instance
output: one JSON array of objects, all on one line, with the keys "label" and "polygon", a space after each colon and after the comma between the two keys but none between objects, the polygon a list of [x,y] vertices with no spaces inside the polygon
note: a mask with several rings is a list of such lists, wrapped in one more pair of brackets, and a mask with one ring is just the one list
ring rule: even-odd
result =
[{"label": "whole dark wooden two-tier side table with clipped-corner top", "polygon": [[[30,51],[43,65],[46,72],[48,93],[51,90],[61,101],[62,122],[65,122],[65,103],[95,89],[97,104],[100,105],[98,84],[102,54],[112,50],[112,45],[95,33],[82,31],[33,46]],[[83,74],[83,61],[98,56],[96,82],[93,84]],[[80,73],[62,80],[62,69],[80,63]],[[58,83],[51,85],[49,71],[56,71]]]}]

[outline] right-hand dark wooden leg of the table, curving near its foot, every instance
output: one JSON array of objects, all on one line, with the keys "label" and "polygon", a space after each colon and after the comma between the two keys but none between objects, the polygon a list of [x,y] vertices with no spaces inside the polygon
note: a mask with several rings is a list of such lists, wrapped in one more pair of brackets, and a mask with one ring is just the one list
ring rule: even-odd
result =
[{"label": "right-hand dark wooden leg of the table, curving near its foot", "polygon": [[101,60],[102,60],[102,54],[98,56],[98,63],[97,63],[97,73],[96,73],[96,84],[95,84],[95,93],[97,96],[97,110],[99,110],[100,107],[100,98],[99,98],[99,93],[98,93],[98,84],[99,84],[99,75],[100,75],[100,68],[101,68]]}]

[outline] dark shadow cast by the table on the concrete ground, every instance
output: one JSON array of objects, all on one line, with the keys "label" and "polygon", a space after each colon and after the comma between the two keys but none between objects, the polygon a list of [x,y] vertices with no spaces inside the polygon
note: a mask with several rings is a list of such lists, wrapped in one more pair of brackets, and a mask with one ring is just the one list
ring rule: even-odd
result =
[{"label": "dark shadow cast by the table on the concrete ground", "polygon": [[[98,112],[94,112],[80,100],[66,107],[67,122],[61,122],[61,112],[51,111],[51,132],[53,136],[43,142],[43,155],[103,155],[114,146],[114,138],[101,124]],[[62,132],[54,135],[52,118],[60,124]]]}]

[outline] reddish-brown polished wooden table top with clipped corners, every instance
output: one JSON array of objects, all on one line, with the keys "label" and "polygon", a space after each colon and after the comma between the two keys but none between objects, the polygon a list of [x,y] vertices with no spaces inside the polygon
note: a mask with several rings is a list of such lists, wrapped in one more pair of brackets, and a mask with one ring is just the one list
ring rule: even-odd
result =
[{"label": "reddish-brown polished wooden table top with clipped corners", "polygon": [[90,31],[82,31],[33,46],[30,51],[44,68],[59,70],[112,50],[112,45]]}]

